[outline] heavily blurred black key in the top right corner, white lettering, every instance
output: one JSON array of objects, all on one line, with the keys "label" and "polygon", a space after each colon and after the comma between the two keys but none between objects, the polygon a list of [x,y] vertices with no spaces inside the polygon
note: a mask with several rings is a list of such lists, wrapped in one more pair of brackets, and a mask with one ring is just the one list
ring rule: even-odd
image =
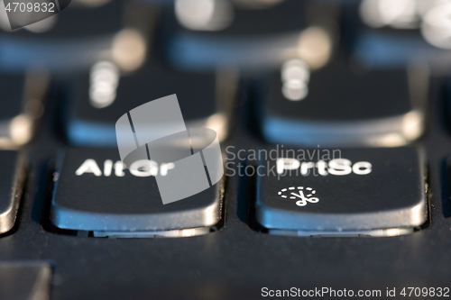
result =
[{"label": "heavily blurred black key in the top right corner, white lettering", "polygon": [[345,3],[345,35],[354,36],[354,56],[372,68],[402,67],[412,61],[449,68],[451,5],[441,0],[363,0]]}]

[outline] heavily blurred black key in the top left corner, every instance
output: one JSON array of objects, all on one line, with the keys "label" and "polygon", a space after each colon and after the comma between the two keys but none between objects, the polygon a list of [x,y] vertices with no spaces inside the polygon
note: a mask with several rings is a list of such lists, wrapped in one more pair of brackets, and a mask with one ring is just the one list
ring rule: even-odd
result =
[{"label": "heavily blurred black key in the top left corner", "polygon": [[139,68],[155,19],[152,7],[136,1],[74,0],[60,14],[11,32],[3,13],[0,66],[62,72],[89,68],[102,58],[126,71]]}]

